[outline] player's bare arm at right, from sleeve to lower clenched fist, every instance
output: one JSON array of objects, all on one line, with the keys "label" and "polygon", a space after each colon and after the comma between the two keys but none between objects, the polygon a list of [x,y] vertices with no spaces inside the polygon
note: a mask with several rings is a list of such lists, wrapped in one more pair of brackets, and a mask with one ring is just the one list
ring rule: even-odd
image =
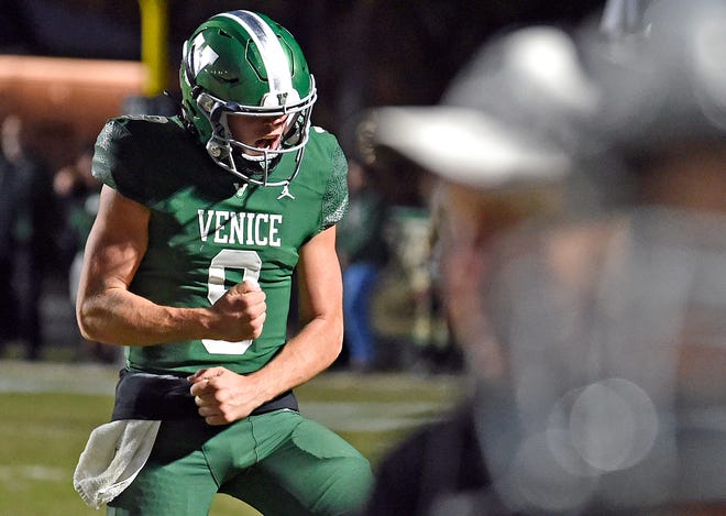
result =
[{"label": "player's bare arm at right, from sleeve to lower clenched fist", "polygon": [[210,425],[224,425],[250,415],[274,398],[324,371],[341,351],[342,283],[336,254],[336,228],[329,228],[300,250],[298,266],[302,330],[266,366],[248,376],[224,367],[191,376],[191,394]]}]

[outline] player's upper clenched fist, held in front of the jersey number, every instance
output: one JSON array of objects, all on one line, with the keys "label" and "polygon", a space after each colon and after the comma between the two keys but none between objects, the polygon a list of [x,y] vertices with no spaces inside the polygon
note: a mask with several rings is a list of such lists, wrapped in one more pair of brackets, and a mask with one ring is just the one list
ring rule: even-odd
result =
[{"label": "player's upper clenched fist, held in front of the jersey number", "polygon": [[238,283],[211,307],[215,315],[210,338],[238,342],[256,339],[267,315],[265,293],[255,282]]}]

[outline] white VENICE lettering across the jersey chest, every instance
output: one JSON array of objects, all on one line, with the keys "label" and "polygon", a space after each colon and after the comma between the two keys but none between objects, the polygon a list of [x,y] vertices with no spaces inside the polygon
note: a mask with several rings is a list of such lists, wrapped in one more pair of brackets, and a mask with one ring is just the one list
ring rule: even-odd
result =
[{"label": "white VENICE lettering across the jersey chest", "polygon": [[201,241],[211,237],[218,244],[268,245],[279,248],[283,216],[235,211],[197,210]]}]

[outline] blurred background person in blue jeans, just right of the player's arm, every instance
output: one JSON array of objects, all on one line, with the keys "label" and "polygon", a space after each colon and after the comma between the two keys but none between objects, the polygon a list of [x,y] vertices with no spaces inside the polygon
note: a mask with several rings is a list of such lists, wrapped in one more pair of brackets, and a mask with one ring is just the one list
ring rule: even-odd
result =
[{"label": "blurred background person in blue jeans, just right of the player's arm", "polygon": [[385,228],[388,204],[372,182],[371,172],[349,160],[348,213],[338,229],[338,256],[343,272],[343,317],[349,367],[356,372],[376,366],[376,330],[371,320],[373,293],[388,261]]}]

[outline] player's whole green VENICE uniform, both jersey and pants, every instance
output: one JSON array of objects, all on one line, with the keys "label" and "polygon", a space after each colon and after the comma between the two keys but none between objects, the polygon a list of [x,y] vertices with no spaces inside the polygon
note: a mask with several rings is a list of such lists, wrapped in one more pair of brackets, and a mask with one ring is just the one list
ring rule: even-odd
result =
[{"label": "player's whole green VENICE uniform, both jersey and pants", "polygon": [[[294,166],[293,154],[283,156],[271,179],[289,177]],[[334,136],[310,132],[289,185],[254,186],[217,166],[178,118],[123,117],[100,133],[94,174],[151,210],[148,249],[130,285],[133,293],[160,305],[204,307],[232,285],[254,279],[267,296],[258,339],[129,345],[129,370],[184,383],[200,367],[223,365],[245,374],[272,360],[286,341],[298,250],[346,208],[346,162]],[[187,388],[182,385],[184,394]],[[138,394],[146,397],[143,389]],[[184,402],[188,415],[151,417],[163,419],[152,454],[109,503],[109,515],[206,515],[217,493],[266,515],[349,514],[365,501],[372,483],[367,460],[296,410],[210,427],[190,395]]]}]

